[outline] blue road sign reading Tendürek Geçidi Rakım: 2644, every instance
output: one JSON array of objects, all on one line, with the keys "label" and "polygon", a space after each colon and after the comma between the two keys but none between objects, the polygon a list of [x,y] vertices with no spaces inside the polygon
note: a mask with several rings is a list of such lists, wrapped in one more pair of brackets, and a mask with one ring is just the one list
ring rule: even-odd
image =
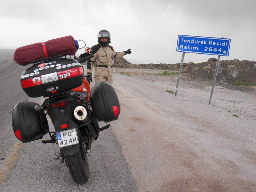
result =
[{"label": "blue road sign reading Tend\u00fcrek Ge\u00e7idi Rak\u0131m: 2644", "polygon": [[176,51],[228,56],[231,39],[178,35]]}]

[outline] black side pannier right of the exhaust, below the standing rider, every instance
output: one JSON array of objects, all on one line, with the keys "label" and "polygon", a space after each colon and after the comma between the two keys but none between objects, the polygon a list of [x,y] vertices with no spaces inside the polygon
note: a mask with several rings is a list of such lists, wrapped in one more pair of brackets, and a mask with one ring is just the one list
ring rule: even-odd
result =
[{"label": "black side pannier right of the exhaust, below the standing rider", "polygon": [[99,82],[91,89],[91,104],[97,121],[110,122],[118,119],[120,104],[110,83]]}]

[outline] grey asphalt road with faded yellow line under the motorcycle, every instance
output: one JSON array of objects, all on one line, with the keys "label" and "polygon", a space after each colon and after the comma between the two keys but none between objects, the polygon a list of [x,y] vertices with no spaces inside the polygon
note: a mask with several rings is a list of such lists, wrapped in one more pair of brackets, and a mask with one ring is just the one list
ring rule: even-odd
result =
[{"label": "grey asphalt road with faded yellow line under the motorcycle", "polygon": [[30,98],[23,92],[19,80],[27,68],[13,60],[0,60],[0,191],[138,191],[111,128],[101,132],[92,143],[90,179],[85,185],[74,183],[65,163],[54,159],[58,145],[43,144],[41,140],[22,144],[16,139],[11,123],[15,104],[20,100],[37,103],[44,100]]}]

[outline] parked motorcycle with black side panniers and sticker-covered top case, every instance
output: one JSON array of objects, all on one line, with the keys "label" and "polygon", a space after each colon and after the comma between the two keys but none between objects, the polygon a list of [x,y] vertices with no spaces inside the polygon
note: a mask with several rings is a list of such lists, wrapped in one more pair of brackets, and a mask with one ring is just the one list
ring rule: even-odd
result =
[{"label": "parked motorcycle with black side panniers and sticker-covered top case", "polygon": [[[12,111],[15,136],[22,142],[32,142],[49,134],[42,143],[58,143],[58,159],[66,163],[72,179],[83,184],[89,179],[88,157],[91,144],[99,132],[98,122],[118,119],[120,104],[114,88],[99,82],[90,89],[81,63],[94,57],[88,53],[78,58],[67,55],[33,61],[33,66],[21,74],[21,87],[30,97],[44,96],[43,104],[19,101]],[[49,130],[49,116],[54,131]]]}]

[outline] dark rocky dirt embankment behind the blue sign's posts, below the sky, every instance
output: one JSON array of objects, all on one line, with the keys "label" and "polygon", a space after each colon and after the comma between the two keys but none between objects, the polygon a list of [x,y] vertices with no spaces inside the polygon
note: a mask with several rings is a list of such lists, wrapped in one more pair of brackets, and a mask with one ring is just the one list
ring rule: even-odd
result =
[{"label": "dark rocky dirt embankment behind the blue sign's posts, below the sky", "polygon": [[[202,63],[184,63],[182,70],[187,73],[186,76],[196,81],[212,81],[216,68],[216,58],[210,58],[207,62]],[[180,63],[176,64],[131,64],[124,58],[116,59],[114,67],[134,68],[134,69],[158,69],[158,70],[179,70]],[[256,84],[256,61],[239,61],[239,60],[222,60],[219,63],[216,83],[240,82]]]}]

